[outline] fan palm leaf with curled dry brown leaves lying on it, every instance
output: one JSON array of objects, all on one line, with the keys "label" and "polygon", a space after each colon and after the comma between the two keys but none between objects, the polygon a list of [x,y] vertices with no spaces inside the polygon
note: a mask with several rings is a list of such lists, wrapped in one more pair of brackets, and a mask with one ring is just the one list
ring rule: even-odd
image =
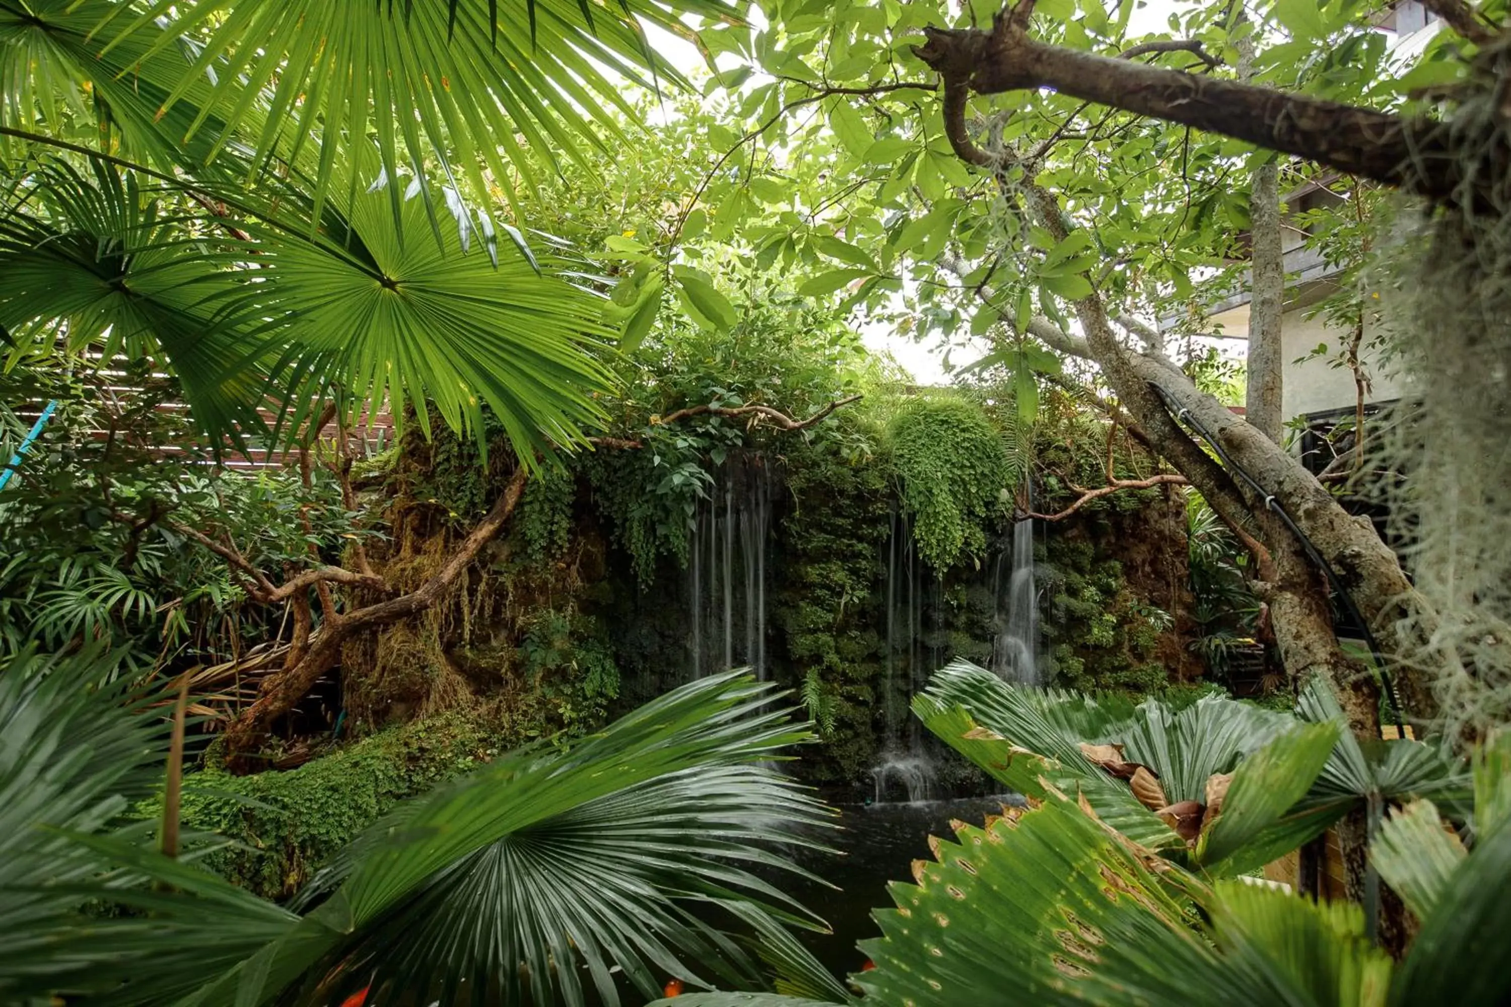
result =
[{"label": "fan palm leaf with curled dry brown leaves lying on it", "polygon": [[[1132,707],[1009,685],[953,661],[913,708],[999,782],[1037,799],[1082,794],[1129,839],[1218,876],[1263,865],[1343,814],[1292,814],[1333,750],[1333,723],[1307,728],[1222,696],[1171,713],[1157,699]],[[1222,805],[1215,784],[1242,800]]]}]

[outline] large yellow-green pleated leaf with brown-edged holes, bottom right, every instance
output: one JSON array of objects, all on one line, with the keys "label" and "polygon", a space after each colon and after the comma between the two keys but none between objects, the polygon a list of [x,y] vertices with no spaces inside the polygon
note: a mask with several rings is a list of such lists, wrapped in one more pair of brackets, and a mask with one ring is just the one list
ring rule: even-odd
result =
[{"label": "large yellow-green pleated leaf with brown-edged holes, bottom right", "polygon": [[[884,936],[861,950],[876,968],[852,977],[863,1002],[1192,1002],[1177,999],[1182,986],[1215,957],[1188,907],[1073,799],[1050,796],[931,845],[916,883],[890,886],[898,907],[873,913]],[[1133,956],[1168,975],[1129,983]],[[1233,1002],[1210,992],[1197,1002]]]}]

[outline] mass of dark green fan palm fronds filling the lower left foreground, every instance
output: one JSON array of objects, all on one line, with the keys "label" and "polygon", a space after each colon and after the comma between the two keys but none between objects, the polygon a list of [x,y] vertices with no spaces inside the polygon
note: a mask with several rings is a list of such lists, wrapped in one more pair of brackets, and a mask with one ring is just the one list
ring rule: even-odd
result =
[{"label": "mass of dark green fan palm fronds filling the lower left foreground", "polygon": [[[820,924],[752,873],[795,870],[772,844],[814,842],[825,823],[763,765],[808,735],[748,678],[701,679],[567,752],[521,749],[400,803],[283,907],[148,848],[151,823],[116,826],[154,784],[166,731],[121,704],[124,684],[86,688],[109,667],[95,649],[23,655],[0,675],[8,999],[260,1004],[370,987],[618,1002],[666,974],[759,986],[762,957],[737,935],[822,987],[786,933]],[[125,912],[79,915],[86,897]]]}]

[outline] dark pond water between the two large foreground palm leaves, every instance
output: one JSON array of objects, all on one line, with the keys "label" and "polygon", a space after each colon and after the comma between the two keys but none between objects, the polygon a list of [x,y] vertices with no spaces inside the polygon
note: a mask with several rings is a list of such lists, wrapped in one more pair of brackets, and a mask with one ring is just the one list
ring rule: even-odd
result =
[{"label": "dark pond water between the two large foreground palm leaves", "polygon": [[879,936],[872,909],[890,907],[888,882],[911,882],[913,861],[929,859],[931,835],[953,838],[952,820],[982,824],[1002,812],[1017,796],[963,797],[914,803],[840,805],[843,832],[830,845],[839,856],[804,853],[798,859],[839,891],[817,885],[789,883],[789,891],[823,916],[833,935],[805,935],[804,942],[836,975],[858,972],[866,956],[855,948],[864,938]]}]

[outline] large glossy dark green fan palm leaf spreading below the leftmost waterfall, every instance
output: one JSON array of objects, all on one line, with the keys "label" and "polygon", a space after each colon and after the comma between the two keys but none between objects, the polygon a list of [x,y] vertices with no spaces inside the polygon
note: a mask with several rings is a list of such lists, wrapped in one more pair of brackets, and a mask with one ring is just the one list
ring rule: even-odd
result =
[{"label": "large glossy dark green fan palm leaf spreading below the leftmost waterfall", "polygon": [[830,821],[765,767],[810,738],[771,698],[739,673],[706,678],[565,752],[506,755],[400,805],[292,909],[122,850],[174,891],[110,897],[150,909],[171,953],[125,919],[54,954],[89,962],[76,984],[110,1004],[325,1004],[364,987],[381,1002],[582,1004],[591,989],[613,1004],[621,983],[650,998],[666,975],[757,989],[739,935],[822,925],[772,886],[798,870],[774,844],[811,844]]}]

